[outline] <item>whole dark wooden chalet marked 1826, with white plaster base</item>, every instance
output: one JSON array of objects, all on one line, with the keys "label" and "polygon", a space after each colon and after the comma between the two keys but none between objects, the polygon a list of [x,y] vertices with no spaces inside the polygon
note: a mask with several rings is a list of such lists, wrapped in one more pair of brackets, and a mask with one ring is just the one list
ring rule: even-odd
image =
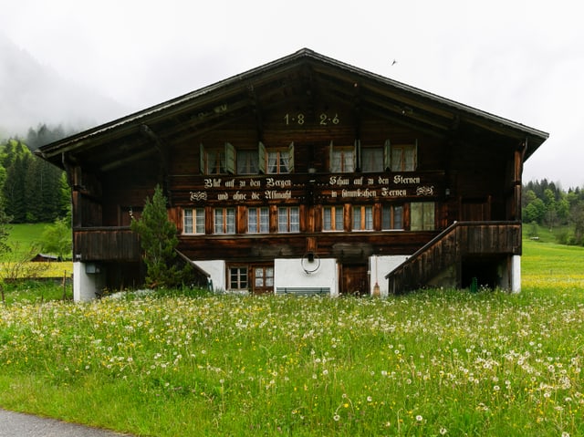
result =
[{"label": "whole dark wooden chalet marked 1826, with white plaster base", "polygon": [[518,291],[521,174],[547,133],[302,49],[42,147],[72,189],[74,295],[140,286],[160,184],[217,291]]}]

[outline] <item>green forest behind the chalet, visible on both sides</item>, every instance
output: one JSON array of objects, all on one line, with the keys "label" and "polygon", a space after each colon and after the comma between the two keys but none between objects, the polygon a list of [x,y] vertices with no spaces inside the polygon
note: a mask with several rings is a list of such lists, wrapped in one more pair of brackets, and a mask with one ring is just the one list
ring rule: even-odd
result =
[{"label": "green forest behind the chalet, visible on both sides", "polygon": [[[2,207],[13,224],[54,223],[70,214],[65,172],[36,155],[40,146],[72,135],[62,127],[39,125],[26,138],[0,142]],[[531,181],[523,185],[522,220],[525,233],[537,237],[537,227],[558,230],[558,243],[584,245],[584,189],[563,190],[558,183]]]}]

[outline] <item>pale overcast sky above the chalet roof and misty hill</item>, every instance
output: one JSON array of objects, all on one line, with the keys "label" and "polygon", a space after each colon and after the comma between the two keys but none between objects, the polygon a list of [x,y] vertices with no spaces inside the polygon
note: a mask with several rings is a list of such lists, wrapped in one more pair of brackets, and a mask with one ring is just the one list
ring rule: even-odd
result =
[{"label": "pale overcast sky above the chalet roof and misty hill", "polygon": [[0,7],[0,31],[18,47],[130,111],[308,47],[547,131],[524,182],[584,186],[577,0],[0,0]]}]

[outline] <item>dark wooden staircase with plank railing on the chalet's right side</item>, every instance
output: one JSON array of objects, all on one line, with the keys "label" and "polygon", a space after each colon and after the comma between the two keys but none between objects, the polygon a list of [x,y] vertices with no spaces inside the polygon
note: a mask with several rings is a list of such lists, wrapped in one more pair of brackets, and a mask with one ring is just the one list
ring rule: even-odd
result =
[{"label": "dark wooden staircase with plank railing on the chalet's right side", "polygon": [[385,276],[389,293],[433,285],[449,269],[450,285],[461,287],[464,259],[496,255],[521,255],[521,223],[454,222]]}]

